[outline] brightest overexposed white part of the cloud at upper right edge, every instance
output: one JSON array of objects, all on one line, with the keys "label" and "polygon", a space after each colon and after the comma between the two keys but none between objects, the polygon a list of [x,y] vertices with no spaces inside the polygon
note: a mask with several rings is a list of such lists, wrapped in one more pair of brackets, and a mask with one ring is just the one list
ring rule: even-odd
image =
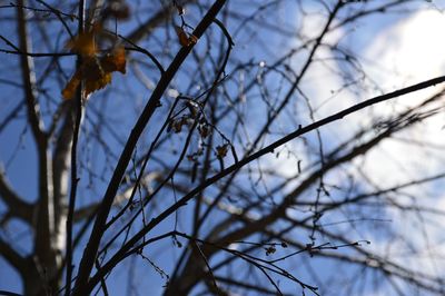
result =
[{"label": "brightest overexposed white part of the cloud at upper right edge", "polygon": [[[382,89],[392,91],[443,75],[445,72],[445,38],[441,38],[443,28],[445,28],[445,17],[431,10],[415,13],[382,32],[364,52],[366,59],[376,61],[375,67],[369,68],[372,78]],[[439,89],[433,87],[404,96],[376,106],[374,111],[378,116],[388,116],[418,105]],[[402,136],[421,142],[445,145],[443,119],[444,117],[436,116],[423,125],[411,128]],[[439,161],[428,161],[427,155],[419,147],[394,140],[384,142],[382,149],[373,151],[370,159],[366,169],[387,184],[398,181],[406,174],[432,174],[443,167]],[[402,167],[407,170],[406,174],[403,174]]]}]

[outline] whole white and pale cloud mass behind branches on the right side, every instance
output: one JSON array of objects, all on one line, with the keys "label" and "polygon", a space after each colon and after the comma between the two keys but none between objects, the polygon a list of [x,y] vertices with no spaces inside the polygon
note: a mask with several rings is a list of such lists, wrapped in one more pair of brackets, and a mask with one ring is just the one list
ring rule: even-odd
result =
[{"label": "whole white and pale cloud mass behind branches on the right side", "polygon": [[[364,52],[360,52],[366,61],[364,62],[366,72],[384,92],[445,75],[444,28],[445,14],[437,11],[419,11],[385,29],[369,42],[369,47]],[[318,56],[325,58],[329,55],[327,50],[322,50],[318,53]],[[330,90],[340,88],[343,83],[325,65],[317,62],[312,66],[309,72],[310,76],[305,78],[304,88],[314,106],[320,105],[326,98],[329,98],[332,96]],[[406,108],[417,106],[438,90],[441,90],[441,86],[374,106],[372,112],[362,110],[326,127],[324,129],[325,135],[328,136],[327,139],[333,139],[333,141],[345,139],[345,135],[350,135],[353,128],[369,124],[373,118],[385,118]],[[332,115],[376,95],[382,95],[382,92],[364,90],[355,96],[352,92],[344,91],[318,109],[317,118]],[[442,129],[444,125],[445,116],[437,115],[423,124],[411,127],[406,132],[397,134],[397,137],[403,137],[408,141],[415,140],[421,145],[411,145],[397,139],[385,140],[366,156],[366,161],[359,164],[360,169],[382,188],[443,171],[445,169],[443,151],[441,154],[439,149],[429,149],[427,148],[428,145],[422,147],[422,144],[445,146],[445,130]],[[413,195],[417,205],[444,209],[445,196],[439,198],[435,194],[436,197],[428,197],[428,193],[437,191],[434,186],[437,186],[437,184],[429,182],[422,187],[413,186],[404,189],[404,193]],[[400,200],[404,205],[411,204],[411,201],[412,199],[408,198]],[[445,220],[439,216],[434,216],[435,223],[431,223],[431,220],[422,221],[414,211],[409,213],[411,215],[399,214],[395,209],[388,210],[388,215],[393,217],[390,227],[400,235],[400,240],[387,241],[377,238],[377,241],[373,240],[373,251],[384,256],[387,255],[388,246],[390,246],[397,254],[404,248],[408,249],[405,244],[408,240],[411,246],[417,248],[418,253],[413,254],[409,258],[395,255],[392,257],[394,260],[404,266],[409,266],[407,264],[409,262],[414,269],[426,274],[437,275],[444,272],[443,267],[437,267],[431,260],[431,257],[441,257],[441,253],[442,255],[444,253],[441,239],[444,237],[442,229],[445,227]],[[421,224],[423,224],[422,227]],[[402,240],[402,237],[405,240]],[[429,246],[435,246],[435,248]],[[376,295],[380,294],[376,292]]]}]

